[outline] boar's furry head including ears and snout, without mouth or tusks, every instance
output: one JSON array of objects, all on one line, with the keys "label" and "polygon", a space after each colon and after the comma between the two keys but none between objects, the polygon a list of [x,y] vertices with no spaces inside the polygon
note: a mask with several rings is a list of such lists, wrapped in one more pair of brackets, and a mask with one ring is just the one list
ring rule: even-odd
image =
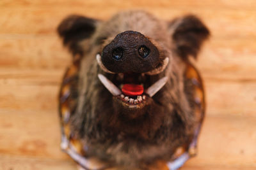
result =
[{"label": "boar's furry head including ears and snout, without mouth or tusks", "polygon": [[[70,128],[88,148],[88,157],[138,167],[141,162],[170,160],[179,146],[191,143],[198,120],[184,73],[189,56],[196,58],[209,36],[200,19],[188,15],[163,21],[145,11],[120,12],[107,21],[72,15],[58,32],[74,60],[82,56]],[[112,74],[101,69],[97,54]],[[168,66],[161,73],[146,74],[161,68],[166,57]],[[98,78],[102,74],[119,88],[124,80],[118,73],[132,73],[144,89],[164,76],[168,81],[147,96],[143,108],[129,109]]]}]

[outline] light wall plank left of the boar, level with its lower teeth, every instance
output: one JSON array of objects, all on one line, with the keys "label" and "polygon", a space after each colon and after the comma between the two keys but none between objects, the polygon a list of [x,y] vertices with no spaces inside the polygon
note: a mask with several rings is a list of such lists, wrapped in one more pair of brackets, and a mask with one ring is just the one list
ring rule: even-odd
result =
[{"label": "light wall plank left of the boar, level with its lower teeth", "polygon": [[1,85],[0,110],[57,110],[58,86]]}]

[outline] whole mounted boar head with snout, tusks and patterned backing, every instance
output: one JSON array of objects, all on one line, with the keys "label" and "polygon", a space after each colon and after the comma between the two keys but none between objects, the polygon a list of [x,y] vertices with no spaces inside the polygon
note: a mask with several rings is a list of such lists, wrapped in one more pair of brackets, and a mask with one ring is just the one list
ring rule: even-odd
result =
[{"label": "whole mounted boar head with snout, tusks and patterned backing", "polygon": [[191,63],[209,36],[194,15],[70,15],[60,91],[61,148],[81,169],[178,169],[196,154],[204,89]]}]

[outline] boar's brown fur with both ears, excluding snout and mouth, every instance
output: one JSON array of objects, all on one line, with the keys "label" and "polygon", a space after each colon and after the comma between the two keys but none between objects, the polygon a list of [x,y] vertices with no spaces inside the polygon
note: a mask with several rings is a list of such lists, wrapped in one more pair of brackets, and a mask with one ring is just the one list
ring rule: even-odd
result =
[{"label": "boar's brown fur with both ears, excluding snout and mouth", "polygon": [[[106,22],[80,19],[64,20],[58,31],[72,53],[83,54],[77,109],[71,118],[72,131],[88,146],[87,155],[125,166],[159,158],[170,160],[177,147],[191,141],[195,130],[191,97],[184,85],[184,59],[196,56],[209,31],[194,16],[164,22],[144,11],[118,13]],[[89,31],[81,31],[85,27]],[[149,84],[164,75],[168,82],[136,117],[125,114],[129,110],[120,107],[97,78],[102,73],[113,80],[115,75],[102,72],[95,55],[124,31],[141,32],[157,46],[159,60],[170,58],[163,73],[148,76]]]}]

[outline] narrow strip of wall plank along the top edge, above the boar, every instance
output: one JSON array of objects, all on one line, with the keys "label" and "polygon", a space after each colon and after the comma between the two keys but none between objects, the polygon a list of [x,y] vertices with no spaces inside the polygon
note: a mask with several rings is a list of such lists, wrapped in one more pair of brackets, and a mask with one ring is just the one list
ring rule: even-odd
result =
[{"label": "narrow strip of wall plank along the top edge, above the boar", "polygon": [[109,0],[108,2],[102,1],[102,0],[77,0],[77,1],[69,1],[69,0],[63,0],[63,1],[54,1],[54,0],[45,0],[45,1],[40,1],[40,0],[22,0],[13,3],[10,0],[2,0],[0,2],[0,5],[8,7],[8,8],[13,8],[14,6],[19,6],[19,7],[24,7],[24,6],[29,6],[29,7],[37,7],[37,6],[98,6],[99,8],[102,6],[127,6],[127,7],[136,7],[136,6],[198,6],[198,7],[207,7],[211,6],[211,8],[249,8],[249,9],[254,9],[253,7],[256,6],[256,3],[254,0],[234,0],[234,1],[228,1],[228,0],[205,0],[204,3],[200,0],[193,0],[193,1],[188,1],[188,0],[180,0],[180,1],[168,1],[168,0],[159,0],[159,1],[150,1],[148,3],[147,0],[141,0],[141,1],[129,1],[129,0],[120,0],[120,1],[115,1],[115,0]]}]

